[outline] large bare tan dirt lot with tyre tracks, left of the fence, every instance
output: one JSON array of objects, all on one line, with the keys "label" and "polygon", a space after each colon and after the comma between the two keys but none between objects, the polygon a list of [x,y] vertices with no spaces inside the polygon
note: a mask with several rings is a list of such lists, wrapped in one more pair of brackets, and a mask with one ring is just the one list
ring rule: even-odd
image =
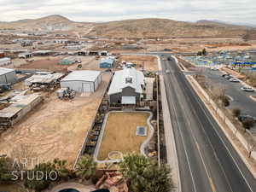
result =
[{"label": "large bare tan dirt lot with tyre tracks, left of the fence", "polygon": [[72,166],[79,154],[106,90],[111,75],[102,75],[102,84],[88,97],[61,101],[55,93],[43,104],[0,136],[0,154],[12,158],[38,158],[40,162],[58,157]]}]

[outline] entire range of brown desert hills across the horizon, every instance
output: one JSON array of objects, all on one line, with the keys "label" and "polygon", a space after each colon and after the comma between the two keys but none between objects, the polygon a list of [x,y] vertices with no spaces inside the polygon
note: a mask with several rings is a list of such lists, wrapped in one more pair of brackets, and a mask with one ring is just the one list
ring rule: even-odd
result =
[{"label": "entire range of brown desert hills across the horizon", "polygon": [[241,38],[256,32],[256,28],[237,26],[221,20],[199,20],[193,23],[149,18],[90,23],[75,22],[61,15],[0,22],[0,28],[65,31],[105,38]]}]

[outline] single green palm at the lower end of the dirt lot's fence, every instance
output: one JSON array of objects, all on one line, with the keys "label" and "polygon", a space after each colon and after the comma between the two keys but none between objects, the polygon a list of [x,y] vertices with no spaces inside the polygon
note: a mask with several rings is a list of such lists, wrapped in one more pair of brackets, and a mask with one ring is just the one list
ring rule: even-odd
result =
[{"label": "single green palm at the lower end of the dirt lot's fence", "polygon": [[89,180],[96,173],[96,162],[89,154],[85,154],[79,160],[76,166],[76,174],[82,179]]}]

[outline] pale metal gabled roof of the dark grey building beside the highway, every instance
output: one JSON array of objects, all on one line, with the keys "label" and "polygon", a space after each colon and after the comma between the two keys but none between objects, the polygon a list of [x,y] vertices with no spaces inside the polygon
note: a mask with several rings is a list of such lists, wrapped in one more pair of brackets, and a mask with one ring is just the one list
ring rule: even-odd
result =
[{"label": "pale metal gabled roof of the dark grey building beside the highway", "polygon": [[[131,78],[131,83],[127,83],[125,79]],[[144,85],[143,72],[137,71],[135,68],[125,68],[124,70],[114,73],[113,80],[108,90],[108,95],[122,92],[125,87],[132,87],[137,93],[142,94]]]}]

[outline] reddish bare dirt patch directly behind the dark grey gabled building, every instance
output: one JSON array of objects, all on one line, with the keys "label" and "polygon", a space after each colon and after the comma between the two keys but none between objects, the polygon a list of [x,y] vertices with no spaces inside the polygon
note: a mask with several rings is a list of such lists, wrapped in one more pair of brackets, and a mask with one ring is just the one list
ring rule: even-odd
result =
[{"label": "reddish bare dirt patch directly behind the dark grey gabled building", "polygon": [[121,55],[119,61],[130,61],[142,65],[147,71],[158,71],[157,58],[150,55]]}]

